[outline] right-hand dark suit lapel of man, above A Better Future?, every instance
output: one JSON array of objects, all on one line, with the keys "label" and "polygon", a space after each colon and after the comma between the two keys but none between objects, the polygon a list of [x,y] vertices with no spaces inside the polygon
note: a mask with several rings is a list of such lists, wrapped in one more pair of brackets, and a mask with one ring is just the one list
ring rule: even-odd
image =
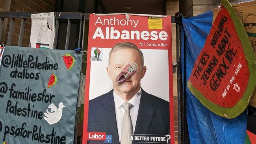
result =
[{"label": "right-hand dark suit lapel of man, above A Better Future?", "polygon": [[139,111],[134,134],[148,134],[151,122],[153,120],[156,109],[152,107],[153,100],[148,97],[147,92],[141,89],[141,101],[139,103]]}]

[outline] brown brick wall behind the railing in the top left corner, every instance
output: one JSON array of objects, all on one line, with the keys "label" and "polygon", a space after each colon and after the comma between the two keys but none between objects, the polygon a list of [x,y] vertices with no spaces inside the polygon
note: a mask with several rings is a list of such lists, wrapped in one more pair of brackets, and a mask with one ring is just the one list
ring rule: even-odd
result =
[{"label": "brown brick wall behind the railing in the top left corner", "polygon": [[[20,12],[54,12],[56,0],[11,0],[10,11]],[[14,32],[11,45],[17,46],[19,40],[21,19],[15,18]],[[24,28],[24,37],[22,46],[29,46],[30,43],[30,30],[31,30],[31,18],[26,19]],[[7,24],[5,41],[7,41],[7,35],[9,31],[9,21]]]}]

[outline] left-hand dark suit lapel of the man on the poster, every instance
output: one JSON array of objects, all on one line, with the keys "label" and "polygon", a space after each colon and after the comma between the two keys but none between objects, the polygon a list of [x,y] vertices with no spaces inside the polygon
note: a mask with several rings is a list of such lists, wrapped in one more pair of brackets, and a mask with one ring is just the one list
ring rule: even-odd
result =
[{"label": "left-hand dark suit lapel of the man on the poster", "polygon": [[105,124],[106,135],[112,135],[112,144],[119,144],[113,89],[104,97],[102,103],[102,122]]}]

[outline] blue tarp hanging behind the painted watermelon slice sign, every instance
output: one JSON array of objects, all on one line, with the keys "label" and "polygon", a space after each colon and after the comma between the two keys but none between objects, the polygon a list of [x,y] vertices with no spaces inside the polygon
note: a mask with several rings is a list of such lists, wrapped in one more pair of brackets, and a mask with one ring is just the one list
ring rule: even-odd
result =
[{"label": "blue tarp hanging behind the painted watermelon slice sign", "polygon": [[[187,80],[212,26],[213,12],[182,19],[182,77]],[[186,37],[184,38],[184,35]],[[185,45],[184,45],[185,44]],[[208,110],[187,89],[187,124],[191,144],[244,144],[247,113],[226,119]]]}]

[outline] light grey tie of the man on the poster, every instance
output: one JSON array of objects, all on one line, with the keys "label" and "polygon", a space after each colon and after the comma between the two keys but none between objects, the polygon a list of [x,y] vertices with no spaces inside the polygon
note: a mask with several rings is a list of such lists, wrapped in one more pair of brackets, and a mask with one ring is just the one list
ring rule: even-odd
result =
[{"label": "light grey tie of the man on the poster", "polygon": [[130,142],[130,134],[133,134],[132,119],[130,115],[130,109],[133,107],[131,103],[125,102],[122,104],[124,108],[124,118],[122,120],[122,131],[121,131],[121,144],[132,144]]}]

